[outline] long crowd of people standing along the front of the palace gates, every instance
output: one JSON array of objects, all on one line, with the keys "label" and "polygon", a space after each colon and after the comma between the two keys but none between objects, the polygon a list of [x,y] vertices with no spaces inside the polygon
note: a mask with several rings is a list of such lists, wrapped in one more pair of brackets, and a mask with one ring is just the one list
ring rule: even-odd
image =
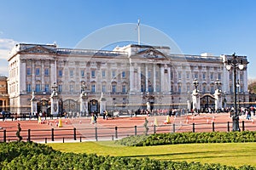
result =
[{"label": "long crowd of people standing along the front of the palace gates", "polygon": [[[129,111],[113,111],[113,110],[109,110],[109,111],[102,111],[102,113],[98,113],[98,112],[92,112],[92,113],[82,113],[82,112],[64,112],[60,115],[57,115],[57,117],[65,117],[65,118],[77,118],[77,117],[82,117],[82,116],[94,116],[94,119],[96,120],[98,118],[98,116],[102,116],[103,119],[108,120],[109,118],[114,118],[115,116],[122,116],[122,115],[126,115],[126,116],[138,116],[138,115],[146,115],[146,116],[183,116],[186,114],[193,114],[195,116],[200,115],[201,113],[208,113],[208,114],[212,114],[212,113],[230,113],[230,117],[233,116],[235,113],[239,114],[239,116],[246,116],[247,120],[251,120],[252,116],[255,116],[256,114],[256,107],[239,107],[237,109],[237,112],[235,112],[235,108],[234,107],[226,107],[226,108],[222,108],[222,109],[218,109],[215,110],[212,107],[207,107],[207,108],[201,108],[201,110],[188,110],[188,109],[184,109],[184,108],[170,108],[170,109],[153,109],[153,110],[149,110],[149,109],[142,109],[139,108],[137,110],[129,110]],[[10,116],[14,115],[11,114],[9,112]],[[29,113],[28,118],[32,119],[38,119],[38,117],[41,118],[53,118],[52,115],[47,114],[46,112],[42,112],[39,111],[37,112],[33,112],[33,113]],[[4,118],[7,118],[8,115],[7,114],[2,114],[3,120]],[[18,115],[15,114],[13,116],[15,118],[15,120],[17,119]],[[20,116],[21,117],[21,116]]]}]

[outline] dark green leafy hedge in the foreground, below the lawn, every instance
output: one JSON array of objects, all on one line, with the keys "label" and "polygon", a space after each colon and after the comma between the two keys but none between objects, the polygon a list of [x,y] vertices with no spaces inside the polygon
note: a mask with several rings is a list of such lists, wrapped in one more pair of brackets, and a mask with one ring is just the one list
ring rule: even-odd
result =
[{"label": "dark green leafy hedge in the foreground, below the lawn", "polygon": [[11,142],[0,143],[0,169],[247,169],[256,167],[242,166],[239,168],[220,164],[201,164],[186,161],[157,161],[148,158],[135,159],[121,156],[97,156],[95,154],[62,153],[44,144]]}]

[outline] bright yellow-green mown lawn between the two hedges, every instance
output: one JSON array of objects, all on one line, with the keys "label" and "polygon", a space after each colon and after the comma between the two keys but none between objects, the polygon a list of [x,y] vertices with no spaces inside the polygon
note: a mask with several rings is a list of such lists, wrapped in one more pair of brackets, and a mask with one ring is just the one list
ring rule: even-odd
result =
[{"label": "bright yellow-green mown lawn between the two hedges", "polygon": [[102,156],[149,157],[158,160],[198,161],[240,167],[256,167],[256,143],[168,144],[132,147],[113,141],[48,144],[55,150],[74,153],[96,153]]}]

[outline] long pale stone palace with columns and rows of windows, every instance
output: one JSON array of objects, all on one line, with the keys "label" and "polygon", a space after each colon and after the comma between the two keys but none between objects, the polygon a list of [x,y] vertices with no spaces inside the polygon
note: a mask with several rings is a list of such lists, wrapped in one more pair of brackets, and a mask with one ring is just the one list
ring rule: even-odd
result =
[{"label": "long pale stone palace with columns and rows of windows", "polygon": [[8,59],[10,111],[220,109],[233,105],[235,92],[238,105],[246,107],[247,56],[236,56],[243,65],[237,71],[226,69],[231,57],[137,44],[94,50],[19,43]]}]

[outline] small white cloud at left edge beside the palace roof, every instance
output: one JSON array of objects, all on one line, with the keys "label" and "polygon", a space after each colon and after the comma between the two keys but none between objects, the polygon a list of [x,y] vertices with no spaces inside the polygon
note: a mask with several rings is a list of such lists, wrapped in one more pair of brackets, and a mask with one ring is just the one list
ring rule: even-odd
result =
[{"label": "small white cloud at left edge beside the palace roof", "polygon": [[0,59],[8,59],[9,52],[15,47],[15,40],[13,39],[1,39],[0,38]]}]

